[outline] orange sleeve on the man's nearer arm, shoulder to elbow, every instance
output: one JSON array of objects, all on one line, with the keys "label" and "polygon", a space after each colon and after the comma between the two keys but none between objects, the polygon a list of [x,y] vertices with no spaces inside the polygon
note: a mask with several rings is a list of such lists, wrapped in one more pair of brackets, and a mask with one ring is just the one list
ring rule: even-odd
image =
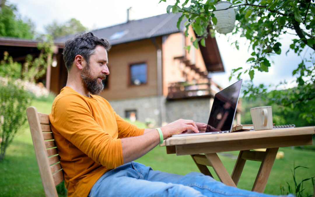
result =
[{"label": "orange sleeve on the man's nearer arm, shoulder to elbow", "polygon": [[84,154],[109,169],[123,165],[121,140],[97,124],[83,99],[64,96],[55,103],[52,113],[54,129]]}]

